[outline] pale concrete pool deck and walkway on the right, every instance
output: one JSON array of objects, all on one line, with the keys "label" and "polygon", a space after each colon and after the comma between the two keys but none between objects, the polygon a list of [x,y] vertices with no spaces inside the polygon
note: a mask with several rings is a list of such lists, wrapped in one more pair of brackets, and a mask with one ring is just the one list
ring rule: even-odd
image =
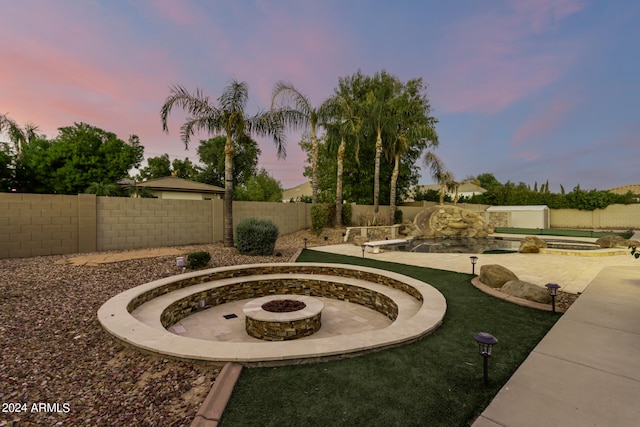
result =
[{"label": "pale concrete pool deck and walkway on the right", "polygon": [[[633,239],[640,240],[640,233]],[[355,246],[314,250],[362,256],[361,249]],[[365,256],[471,272],[465,254],[386,251]],[[555,282],[562,290],[581,296],[529,354],[473,427],[637,426],[640,260],[628,250],[617,256],[480,255],[476,273],[485,264],[503,265],[522,280]],[[496,348],[494,358],[498,357]]]}]

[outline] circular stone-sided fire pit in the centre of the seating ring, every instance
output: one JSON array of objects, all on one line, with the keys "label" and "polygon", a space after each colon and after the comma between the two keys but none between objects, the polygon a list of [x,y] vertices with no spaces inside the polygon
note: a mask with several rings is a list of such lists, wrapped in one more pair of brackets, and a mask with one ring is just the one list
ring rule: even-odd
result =
[{"label": "circular stone-sided fire pit in the centre of the seating ring", "polygon": [[[264,306],[294,311],[268,311]],[[324,304],[306,295],[272,295],[245,304],[247,334],[266,341],[295,340],[320,329]]]}]

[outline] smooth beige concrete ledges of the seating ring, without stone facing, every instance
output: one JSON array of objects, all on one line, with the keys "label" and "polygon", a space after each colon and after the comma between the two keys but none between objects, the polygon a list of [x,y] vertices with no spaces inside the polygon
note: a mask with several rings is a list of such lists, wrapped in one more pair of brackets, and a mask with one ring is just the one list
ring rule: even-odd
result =
[{"label": "smooth beige concrete ledges of the seating ring, without stone facing", "polygon": [[[259,341],[256,343],[218,342],[181,337],[167,331],[162,326],[162,323],[160,322],[161,313],[172,303],[185,298],[185,296],[200,293],[215,287],[225,286],[231,282],[248,282],[258,280],[257,277],[246,275],[183,287],[182,289],[166,293],[147,301],[142,305],[151,304],[154,307],[151,311],[145,314],[145,316],[150,316],[145,321],[136,319],[128,310],[128,307],[134,298],[139,297],[156,287],[166,286],[167,284],[179,280],[196,278],[198,276],[210,274],[216,270],[242,270],[255,267],[281,267],[283,265],[283,263],[274,263],[221,267],[219,269],[186,273],[146,283],[111,298],[98,310],[98,319],[105,330],[114,337],[151,353],[162,354],[178,359],[212,362],[241,362],[246,365],[260,366],[268,364],[285,364],[282,363],[284,361],[289,361],[288,363],[299,363],[304,359],[319,360],[343,354],[357,354],[414,341],[435,330],[442,323],[442,319],[446,312],[446,301],[444,296],[431,285],[419,280],[393,272],[361,266],[356,267],[341,264],[311,263],[292,263],[288,265],[299,267],[301,270],[304,270],[306,274],[301,274],[301,276],[306,276],[307,278],[311,277],[316,280],[332,283],[345,283],[383,293],[384,295],[392,298],[393,301],[398,304],[397,318],[390,326],[374,331],[318,339],[309,337],[311,339],[284,342]],[[320,269],[322,267],[332,269],[350,269],[356,272],[376,274],[389,279],[401,281],[417,290],[422,297],[422,302],[419,304],[419,308],[416,311],[416,298],[399,289],[392,289],[384,285],[358,279],[307,273],[310,271],[309,269]],[[265,276],[272,279],[276,278],[275,275],[270,274]],[[298,275],[292,273],[281,276],[293,279],[294,276]],[[399,295],[399,293],[402,295]],[[405,298],[414,300],[413,310],[406,309],[406,303],[403,302]]]}]

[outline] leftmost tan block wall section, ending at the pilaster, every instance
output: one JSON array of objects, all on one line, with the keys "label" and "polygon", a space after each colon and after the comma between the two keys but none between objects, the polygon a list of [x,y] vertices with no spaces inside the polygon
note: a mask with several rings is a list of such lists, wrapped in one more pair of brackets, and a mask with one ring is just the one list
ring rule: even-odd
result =
[{"label": "leftmost tan block wall section, ending at the pilaster", "polygon": [[78,252],[78,224],[77,196],[0,193],[0,258]]}]

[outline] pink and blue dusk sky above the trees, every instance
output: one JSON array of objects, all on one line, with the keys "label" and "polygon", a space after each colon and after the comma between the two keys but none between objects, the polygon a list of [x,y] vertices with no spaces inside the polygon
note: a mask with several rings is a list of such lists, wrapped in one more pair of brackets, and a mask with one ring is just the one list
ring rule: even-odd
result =
[{"label": "pink and blue dusk sky above the trees", "polygon": [[[339,77],[385,69],[427,83],[436,153],[458,178],[640,183],[638,2],[0,0],[0,15],[0,114],[49,138],[85,122],[138,135],[145,158],[197,162],[206,135],[185,151],[177,110],[162,131],[170,85],[215,99],[246,81],[255,113],[278,80],[319,105]],[[299,135],[285,160],[258,141],[284,188],[306,181]]]}]

